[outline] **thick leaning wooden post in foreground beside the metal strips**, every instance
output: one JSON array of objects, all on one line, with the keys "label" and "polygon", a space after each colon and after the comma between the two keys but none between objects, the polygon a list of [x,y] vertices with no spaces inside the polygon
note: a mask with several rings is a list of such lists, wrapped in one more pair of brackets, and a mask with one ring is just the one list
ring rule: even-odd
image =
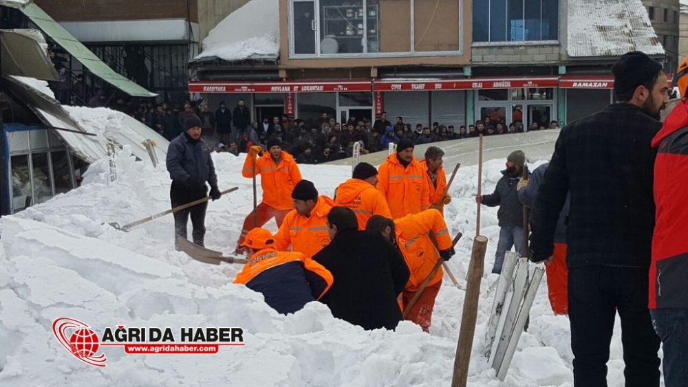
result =
[{"label": "thick leaning wooden post in foreground beside the metal strips", "polygon": [[469,264],[464,311],[461,317],[459,341],[456,344],[451,387],[466,387],[468,382],[469,362],[471,361],[471,349],[473,349],[473,336],[475,335],[475,322],[477,320],[477,304],[480,298],[480,281],[482,280],[486,250],[487,238],[482,235],[476,236],[473,239],[473,252]]}]

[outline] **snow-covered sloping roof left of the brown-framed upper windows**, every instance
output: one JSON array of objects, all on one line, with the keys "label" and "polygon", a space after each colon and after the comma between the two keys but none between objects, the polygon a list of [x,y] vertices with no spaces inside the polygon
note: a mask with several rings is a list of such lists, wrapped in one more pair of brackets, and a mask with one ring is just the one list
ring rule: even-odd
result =
[{"label": "snow-covered sloping roof left of the brown-framed upper windows", "polygon": [[279,57],[278,0],[250,0],[219,22],[203,39],[194,59],[268,59]]}]

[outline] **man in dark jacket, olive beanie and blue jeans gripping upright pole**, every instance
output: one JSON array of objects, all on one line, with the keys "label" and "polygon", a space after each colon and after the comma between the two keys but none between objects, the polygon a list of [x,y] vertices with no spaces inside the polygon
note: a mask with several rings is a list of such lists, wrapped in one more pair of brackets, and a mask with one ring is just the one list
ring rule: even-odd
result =
[{"label": "man in dark jacket, olive beanie and blue jeans gripping upright pole", "polygon": [[495,192],[491,195],[475,197],[475,201],[484,206],[499,206],[497,211],[500,227],[499,242],[497,243],[497,254],[495,254],[495,265],[492,267],[492,272],[496,274],[502,273],[504,254],[511,250],[514,245],[520,256],[526,256],[523,235],[523,205],[518,199],[516,190],[525,164],[526,155],[523,151],[513,151],[506,157],[506,169],[502,170],[504,176],[497,181]]}]

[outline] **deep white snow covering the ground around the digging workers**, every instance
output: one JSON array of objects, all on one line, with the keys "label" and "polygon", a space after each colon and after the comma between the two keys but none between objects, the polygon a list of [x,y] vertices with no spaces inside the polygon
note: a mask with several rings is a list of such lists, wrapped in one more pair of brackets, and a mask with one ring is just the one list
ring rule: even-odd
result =
[{"label": "deep white snow covering the ground around the digging workers", "polygon": [[[220,188],[239,190],[208,206],[206,245],[233,249],[252,207],[243,158],[215,154]],[[533,168],[544,162],[531,164]],[[312,302],[290,316],[232,281],[239,265],[204,265],[173,249],[173,219],[162,217],[114,230],[107,222],[136,221],[169,209],[164,166],[120,154],[118,181],[107,184],[107,162],[92,165],[83,186],[3,217],[0,249],[0,386],[447,386],[458,338],[464,291],[444,280],[431,334],[411,322],[396,331],[363,331],[336,320]],[[447,165],[450,169],[453,166]],[[504,160],[484,164],[491,192]],[[347,179],[350,166],[301,166],[322,194]],[[462,167],[445,216],[451,234],[463,232],[449,267],[464,278],[475,234],[477,166]],[[260,193],[259,193],[260,195]],[[103,225],[105,223],[105,225]],[[499,228],[497,208],[482,208],[488,237],[485,273],[491,272]],[[276,230],[274,222],[268,228]],[[543,281],[504,383],[488,367],[484,332],[496,275],[485,274],[469,368],[469,386],[572,386],[568,318],[554,316]],[[465,282],[461,280],[464,284]],[[464,285],[463,284],[463,285]],[[55,318],[102,327],[243,327],[244,347],[217,355],[126,355],[106,349],[107,367],[78,362],[54,338]],[[609,381],[623,386],[619,322],[612,342]]]}]

